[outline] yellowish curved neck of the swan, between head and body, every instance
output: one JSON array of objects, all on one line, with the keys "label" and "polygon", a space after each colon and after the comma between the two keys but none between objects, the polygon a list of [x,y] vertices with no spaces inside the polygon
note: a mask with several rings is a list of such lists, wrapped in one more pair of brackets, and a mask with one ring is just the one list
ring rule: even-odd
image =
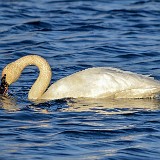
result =
[{"label": "yellowish curved neck of the swan, between head and body", "polygon": [[20,72],[29,65],[35,65],[39,68],[39,76],[29,91],[28,99],[40,99],[52,77],[48,62],[40,56],[30,55],[18,59],[15,63],[17,63]]}]

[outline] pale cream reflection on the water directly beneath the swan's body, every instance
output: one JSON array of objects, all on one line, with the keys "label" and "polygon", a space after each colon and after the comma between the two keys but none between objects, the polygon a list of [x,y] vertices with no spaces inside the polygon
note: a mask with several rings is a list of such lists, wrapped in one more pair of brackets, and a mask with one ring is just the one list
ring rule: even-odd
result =
[{"label": "pale cream reflection on the water directly beneath the swan's body", "polygon": [[135,109],[160,109],[158,99],[68,99],[67,104],[69,107],[65,111],[94,111],[103,114],[122,114]]}]

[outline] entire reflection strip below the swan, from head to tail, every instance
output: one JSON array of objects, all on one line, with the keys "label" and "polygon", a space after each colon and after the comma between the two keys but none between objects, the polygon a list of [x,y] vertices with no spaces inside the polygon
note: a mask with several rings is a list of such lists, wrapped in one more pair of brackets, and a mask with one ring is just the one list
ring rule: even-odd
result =
[{"label": "entire reflection strip below the swan, from head to tail", "polygon": [[[133,111],[134,109],[156,110],[160,109],[159,99],[63,99],[56,101],[36,101],[21,104],[14,97],[0,96],[0,108],[7,111],[18,111],[28,107],[31,110],[48,113],[48,109],[64,103],[67,107],[62,107],[61,111],[85,112],[93,111],[103,114],[122,114]],[[19,104],[20,103],[20,104]],[[65,106],[66,106],[65,105]],[[123,110],[122,110],[123,109]],[[54,111],[56,111],[55,109]],[[58,109],[59,110],[59,109]],[[53,111],[53,110],[52,110]]]}]

